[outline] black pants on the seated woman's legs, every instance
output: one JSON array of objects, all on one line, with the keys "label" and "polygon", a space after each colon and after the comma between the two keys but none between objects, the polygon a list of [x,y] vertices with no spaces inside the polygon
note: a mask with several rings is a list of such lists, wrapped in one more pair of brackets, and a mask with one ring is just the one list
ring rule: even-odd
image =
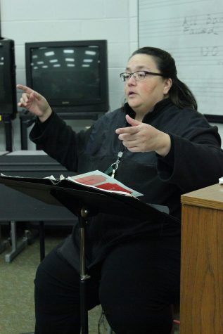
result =
[{"label": "black pants on the seated woman's legs", "polygon": [[[88,309],[101,303],[117,334],[170,334],[179,302],[179,237],[132,240],[89,270]],[[53,250],[37,269],[36,334],[80,332],[79,274]]]}]

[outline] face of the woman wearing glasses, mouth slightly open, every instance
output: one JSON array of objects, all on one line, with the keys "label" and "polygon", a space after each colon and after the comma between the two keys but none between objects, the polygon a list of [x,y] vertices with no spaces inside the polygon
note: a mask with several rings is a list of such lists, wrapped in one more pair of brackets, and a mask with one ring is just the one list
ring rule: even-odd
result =
[{"label": "face of the woman wearing glasses, mouth slightly open", "polygon": [[[160,73],[152,56],[136,54],[129,59],[126,72],[148,71]],[[141,81],[130,77],[125,82],[125,97],[129,106],[137,113],[144,115],[155,103],[168,96],[172,80],[155,75],[146,75]]]}]

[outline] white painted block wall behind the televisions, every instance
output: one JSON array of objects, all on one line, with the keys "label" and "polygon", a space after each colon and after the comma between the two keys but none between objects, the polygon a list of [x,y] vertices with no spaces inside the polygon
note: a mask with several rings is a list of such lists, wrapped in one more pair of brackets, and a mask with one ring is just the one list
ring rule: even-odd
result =
[{"label": "white painted block wall behind the televisions", "polygon": [[[15,41],[16,81],[20,84],[25,84],[25,42],[107,39],[113,110],[123,99],[119,73],[138,47],[137,0],[1,0],[1,36]],[[77,130],[86,124],[69,122]],[[5,147],[4,124],[0,124],[0,150]],[[34,148],[30,142],[29,148]],[[19,117],[13,120],[13,150],[20,150]]]}]

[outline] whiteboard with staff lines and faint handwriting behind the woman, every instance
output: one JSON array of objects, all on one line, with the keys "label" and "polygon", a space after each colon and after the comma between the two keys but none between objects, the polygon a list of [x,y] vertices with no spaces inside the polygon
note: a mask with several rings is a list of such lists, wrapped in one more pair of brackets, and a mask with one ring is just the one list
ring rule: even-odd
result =
[{"label": "whiteboard with staff lines and faint handwriting behind the woman", "polygon": [[198,111],[223,122],[223,1],[139,0],[139,47],[170,52]]}]

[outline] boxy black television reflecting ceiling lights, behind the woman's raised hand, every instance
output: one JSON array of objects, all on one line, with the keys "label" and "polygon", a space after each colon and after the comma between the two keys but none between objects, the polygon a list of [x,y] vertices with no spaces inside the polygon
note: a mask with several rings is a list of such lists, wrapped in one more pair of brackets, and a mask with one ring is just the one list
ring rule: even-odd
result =
[{"label": "boxy black television reflecting ceiling lights, behind the woman's raised hand", "polygon": [[107,41],[25,43],[27,86],[58,113],[108,110]]}]

